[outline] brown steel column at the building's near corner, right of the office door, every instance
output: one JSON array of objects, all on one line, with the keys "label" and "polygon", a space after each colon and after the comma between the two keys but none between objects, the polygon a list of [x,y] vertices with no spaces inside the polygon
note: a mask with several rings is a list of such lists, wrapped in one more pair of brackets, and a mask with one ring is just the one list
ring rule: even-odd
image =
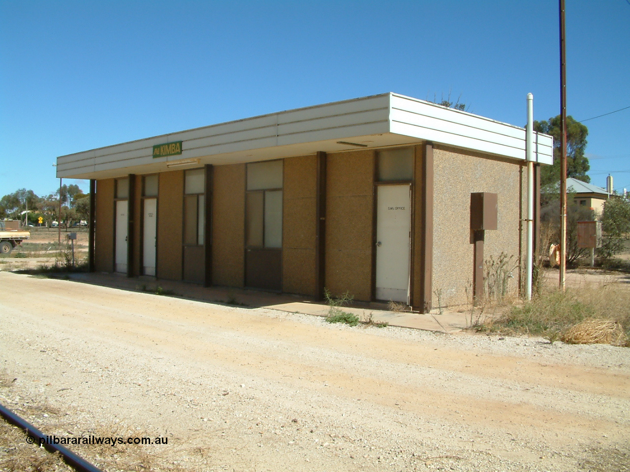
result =
[{"label": "brown steel column at the building's near corner, right of the office door", "polygon": [[433,143],[425,144],[422,159],[420,231],[420,311],[431,311],[433,287]]}]

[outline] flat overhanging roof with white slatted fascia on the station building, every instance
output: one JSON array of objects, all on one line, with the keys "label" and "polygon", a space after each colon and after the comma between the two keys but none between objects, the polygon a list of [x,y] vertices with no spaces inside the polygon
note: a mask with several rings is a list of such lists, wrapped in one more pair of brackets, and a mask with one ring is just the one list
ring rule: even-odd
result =
[{"label": "flat overhanging roof with white slatted fascia on the station building", "polygon": [[[153,146],[181,141],[181,155]],[[228,121],[57,157],[57,177],[106,179],[203,164],[238,164],[318,151],[441,143],[525,160],[525,128],[396,93]],[[553,163],[553,138],[534,133],[534,159]]]}]

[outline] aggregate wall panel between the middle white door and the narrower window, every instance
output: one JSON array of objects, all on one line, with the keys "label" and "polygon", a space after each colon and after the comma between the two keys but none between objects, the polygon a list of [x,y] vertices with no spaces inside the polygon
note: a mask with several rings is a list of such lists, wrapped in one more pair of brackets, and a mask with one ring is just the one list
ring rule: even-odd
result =
[{"label": "aggregate wall panel between the middle white door and the narrower window", "polygon": [[157,277],[181,280],[184,171],[160,172],[157,201]]}]

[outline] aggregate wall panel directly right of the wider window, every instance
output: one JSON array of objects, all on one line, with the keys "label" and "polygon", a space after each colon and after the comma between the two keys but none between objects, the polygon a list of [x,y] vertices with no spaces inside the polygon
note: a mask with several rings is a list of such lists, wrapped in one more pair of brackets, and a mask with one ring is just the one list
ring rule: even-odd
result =
[{"label": "aggregate wall panel directly right of the wider window", "polygon": [[282,291],[316,295],[317,157],[284,159]]}]

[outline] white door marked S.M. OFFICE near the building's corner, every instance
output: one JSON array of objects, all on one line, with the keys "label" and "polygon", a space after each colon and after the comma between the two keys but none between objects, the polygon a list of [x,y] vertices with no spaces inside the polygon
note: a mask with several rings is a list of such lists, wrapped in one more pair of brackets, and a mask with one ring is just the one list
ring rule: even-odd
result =
[{"label": "white door marked S.M. OFFICE near the building's corner", "polygon": [[411,186],[377,187],[376,298],[408,303]]}]

